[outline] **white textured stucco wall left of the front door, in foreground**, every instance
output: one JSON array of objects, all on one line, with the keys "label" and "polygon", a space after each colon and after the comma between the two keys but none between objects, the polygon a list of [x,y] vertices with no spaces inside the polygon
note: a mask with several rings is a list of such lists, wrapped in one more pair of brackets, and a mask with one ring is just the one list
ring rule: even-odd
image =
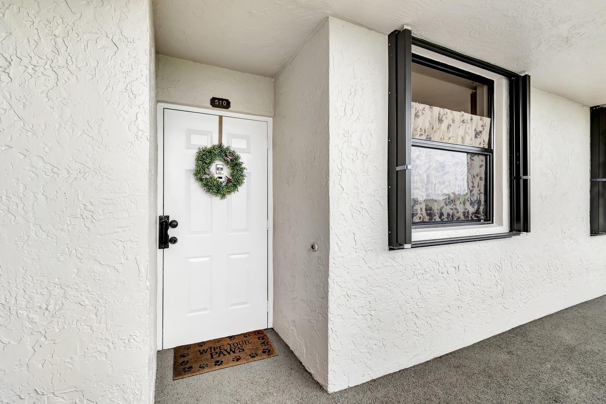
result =
[{"label": "white textured stucco wall left of the front door, in foreground", "polygon": [[0,402],[153,402],[150,3],[8,0],[0,37]]}]

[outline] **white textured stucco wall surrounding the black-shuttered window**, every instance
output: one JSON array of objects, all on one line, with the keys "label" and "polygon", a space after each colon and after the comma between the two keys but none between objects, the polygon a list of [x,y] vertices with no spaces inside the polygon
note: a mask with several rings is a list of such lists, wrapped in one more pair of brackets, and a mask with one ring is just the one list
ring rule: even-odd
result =
[{"label": "white textured stucco wall surrounding the black-shuttered window", "polygon": [[589,236],[589,110],[531,94],[532,233],[387,250],[387,37],[330,19],[328,389],[606,293]]}]

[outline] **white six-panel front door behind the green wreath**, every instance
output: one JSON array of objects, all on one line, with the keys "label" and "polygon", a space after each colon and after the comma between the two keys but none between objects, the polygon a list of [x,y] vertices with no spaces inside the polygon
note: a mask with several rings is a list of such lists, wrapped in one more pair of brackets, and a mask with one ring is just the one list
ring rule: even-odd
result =
[{"label": "white six-panel front door behind the green wreath", "polygon": [[[160,250],[164,255],[162,346],[267,328],[268,124],[169,108],[160,111],[164,113],[164,167],[158,168],[164,170],[161,214],[178,221],[176,228],[168,229],[176,243]],[[238,192],[226,199],[208,194],[193,177],[196,150],[216,144],[220,134],[223,144],[240,154],[246,173]]]}]

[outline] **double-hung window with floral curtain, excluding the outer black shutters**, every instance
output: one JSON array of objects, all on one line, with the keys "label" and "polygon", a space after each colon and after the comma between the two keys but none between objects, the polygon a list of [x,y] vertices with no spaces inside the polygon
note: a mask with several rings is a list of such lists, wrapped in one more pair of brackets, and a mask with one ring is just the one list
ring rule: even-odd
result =
[{"label": "double-hung window with floral curtain, excluding the outer black shutters", "polygon": [[490,224],[494,82],[419,55],[412,60],[413,226]]}]

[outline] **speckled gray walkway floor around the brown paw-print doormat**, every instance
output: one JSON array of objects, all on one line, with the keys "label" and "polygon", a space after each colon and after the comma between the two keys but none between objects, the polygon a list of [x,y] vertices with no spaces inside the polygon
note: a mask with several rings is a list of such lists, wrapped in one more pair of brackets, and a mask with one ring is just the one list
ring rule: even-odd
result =
[{"label": "speckled gray walkway floor around the brown paw-print doormat", "polygon": [[333,394],[267,334],[279,356],[174,381],[160,351],[156,404],[606,403],[606,296]]}]

